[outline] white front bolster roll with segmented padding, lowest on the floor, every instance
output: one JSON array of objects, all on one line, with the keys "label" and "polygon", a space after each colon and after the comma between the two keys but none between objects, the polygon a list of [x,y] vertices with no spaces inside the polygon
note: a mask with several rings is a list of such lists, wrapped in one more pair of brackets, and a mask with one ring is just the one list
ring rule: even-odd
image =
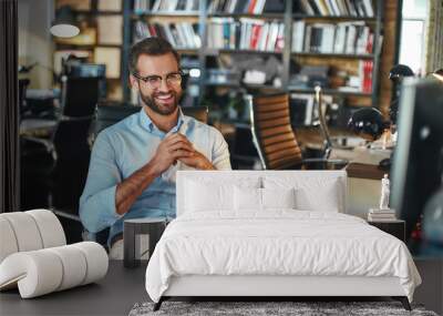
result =
[{"label": "white front bolster roll with segmented padding, lowest on the floor", "polygon": [[19,287],[22,298],[95,282],[107,272],[107,254],[97,243],[9,255],[0,264],[0,289]]}]

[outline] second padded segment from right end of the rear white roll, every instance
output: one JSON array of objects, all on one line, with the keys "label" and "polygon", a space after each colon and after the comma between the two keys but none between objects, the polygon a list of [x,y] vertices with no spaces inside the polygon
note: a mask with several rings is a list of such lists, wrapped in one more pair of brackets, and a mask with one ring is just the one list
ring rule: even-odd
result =
[{"label": "second padded segment from right end of the rear white roll", "polygon": [[42,238],[34,218],[24,212],[1,214],[14,232],[19,252],[29,252],[43,248]]}]

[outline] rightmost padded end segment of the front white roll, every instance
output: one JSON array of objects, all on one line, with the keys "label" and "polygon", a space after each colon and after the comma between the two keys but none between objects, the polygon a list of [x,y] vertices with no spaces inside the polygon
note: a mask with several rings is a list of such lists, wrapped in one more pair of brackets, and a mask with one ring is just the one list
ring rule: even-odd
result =
[{"label": "rightmost padded end segment of the front white roll", "polygon": [[86,258],[86,276],[82,282],[82,285],[95,282],[106,275],[109,257],[106,251],[100,244],[94,242],[82,242],[72,244],[72,246],[82,251]]}]

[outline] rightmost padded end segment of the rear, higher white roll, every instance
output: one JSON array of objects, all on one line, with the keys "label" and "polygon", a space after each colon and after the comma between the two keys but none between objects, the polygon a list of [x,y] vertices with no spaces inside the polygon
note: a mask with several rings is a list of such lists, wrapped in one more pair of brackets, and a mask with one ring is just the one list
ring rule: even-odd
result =
[{"label": "rightmost padded end segment of the rear, higher white roll", "polygon": [[43,248],[66,244],[63,227],[54,213],[48,210],[32,210],[25,213],[34,218],[42,237]]}]

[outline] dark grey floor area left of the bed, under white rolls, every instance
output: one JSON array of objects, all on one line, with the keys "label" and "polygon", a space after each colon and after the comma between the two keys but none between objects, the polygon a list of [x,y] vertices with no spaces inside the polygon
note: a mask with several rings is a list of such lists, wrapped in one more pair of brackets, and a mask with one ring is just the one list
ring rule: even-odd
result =
[{"label": "dark grey floor area left of the bed, under white rolls", "polygon": [[146,263],[124,268],[110,261],[106,276],[89,284],[31,299],[17,289],[0,293],[1,315],[127,315],[135,303],[150,300],[145,289]]}]

